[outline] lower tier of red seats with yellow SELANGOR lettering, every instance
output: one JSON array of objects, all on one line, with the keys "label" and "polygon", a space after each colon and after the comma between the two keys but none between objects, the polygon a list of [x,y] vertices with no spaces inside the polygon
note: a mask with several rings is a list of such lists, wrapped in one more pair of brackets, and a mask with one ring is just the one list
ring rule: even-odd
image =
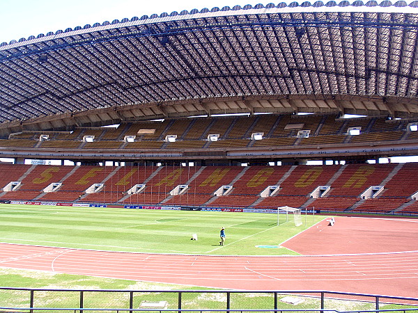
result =
[{"label": "lower tier of red seats with yellow SELANGOR lettering", "polygon": [[[0,170],[10,172],[18,183],[10,190],[3,188],[3,201],[247,209],[275,209],[287,203],[323,211],[417,211],[416,163],[246,167],[0,164]],[[9,179],[3,178],[2,184],[6,187]],[[52,184],[59,186],[46,191]],[[326,189],[323,193],[318,191],[321,186]]]}]

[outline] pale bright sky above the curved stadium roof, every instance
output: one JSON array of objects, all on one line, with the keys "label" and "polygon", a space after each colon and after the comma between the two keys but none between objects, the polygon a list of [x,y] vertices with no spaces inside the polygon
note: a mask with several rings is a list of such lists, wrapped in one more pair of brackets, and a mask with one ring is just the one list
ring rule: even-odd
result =
[{"label": "pale bright sky above the curved stadium roof", "polygon": [[[284,0],[285,2],[289,2]],[[272,0],[0,0],[0,42],[114,19],[194,8],[256,5]]]}]

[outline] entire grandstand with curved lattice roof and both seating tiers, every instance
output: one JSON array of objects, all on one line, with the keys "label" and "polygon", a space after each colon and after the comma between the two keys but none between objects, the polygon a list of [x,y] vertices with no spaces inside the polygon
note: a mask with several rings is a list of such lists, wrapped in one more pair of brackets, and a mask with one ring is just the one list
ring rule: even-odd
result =
[{"label": "entire grandstand with curved lattice roof and both seating tiers", "polygon": [[225,6],[3,42],[0,200],[416,213],[418,166],[379,163],[418,155],[416,10]]}]

